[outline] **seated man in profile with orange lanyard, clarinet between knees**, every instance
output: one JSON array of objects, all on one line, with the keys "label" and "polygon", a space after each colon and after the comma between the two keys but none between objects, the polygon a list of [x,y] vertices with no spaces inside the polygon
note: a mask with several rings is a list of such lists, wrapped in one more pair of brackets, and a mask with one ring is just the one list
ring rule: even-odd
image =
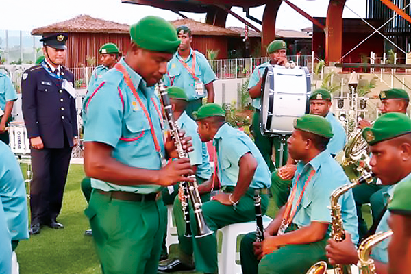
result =
[{"label": "seated man in profile with orange lanyard, clarinet between knees", "polygon": [[[242,273],[306,273],[312,264],[325,260],[330,236],[329,211],[332,192],[348,183],[343,168],[327,150],[332,126],[319,115],[297,119],[288,139],[288,153],[297,160],[292,193],[286,205],[264,232],[264,241],[254,242],[255,232],[241,241]],[[340,197],[344,228],[358,241],[354,199],[349,190]]]}]

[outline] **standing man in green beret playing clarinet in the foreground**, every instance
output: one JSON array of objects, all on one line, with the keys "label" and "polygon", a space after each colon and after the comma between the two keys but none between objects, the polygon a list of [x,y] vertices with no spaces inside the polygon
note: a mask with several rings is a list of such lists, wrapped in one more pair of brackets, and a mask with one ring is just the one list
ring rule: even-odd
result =
[{"label": "standing man in green beret playing clarinet in the foreground", "polygon": [[[179,39],[169,22],[147,16],[130,28],[125,58],[84,101],[84,169],[92,194],[85,210],[105,274],[157,273],[166,227],[162,186],[191,181],[190,160],[177,158],[154,85],[166,73]],[[184,138],[183,147],[188,149]]]}]

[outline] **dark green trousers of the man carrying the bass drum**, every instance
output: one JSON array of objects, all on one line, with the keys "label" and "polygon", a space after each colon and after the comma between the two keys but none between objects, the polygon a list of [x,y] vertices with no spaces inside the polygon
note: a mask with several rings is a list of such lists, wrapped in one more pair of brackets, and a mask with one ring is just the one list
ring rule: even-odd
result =
[{"label": "dark green trousers of the man carrying the bass drum", "polygon": [[[260,130],[260,111],[255,110],[253,114],[253,136],[254,142],[258,147],[258,150],[261,152],[262,157],[266,161],[267,165],[271,172],[275,170],[275,168],[279,168],[279,166],[284,166],[287,162],[288,158],[288,146],[287,146],[287,139],[289,136],[286,136],[286,142],[284,144],[284,153],[283,153],[283,161],[282,163],[279,162],[279,148],[281,145],[281,138],[280,136],[264,136],[261,134]],[[273,155],[273,147],[275,149],[275,166],[273,164],[273,160],[271,160],[271,155]]]}]

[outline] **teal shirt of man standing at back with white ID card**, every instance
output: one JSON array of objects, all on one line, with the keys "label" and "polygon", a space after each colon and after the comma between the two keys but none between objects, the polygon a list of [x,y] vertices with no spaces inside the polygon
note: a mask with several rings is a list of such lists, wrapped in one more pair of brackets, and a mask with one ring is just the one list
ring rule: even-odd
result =
[{"label": "teal shirt of man standing at back with white ID card", "polygon": [[167,64],[167,74],[164,75],[164,84],[166,86],[178,86],[182,88],[188,97],[188,101],[197,100],[207,96],[207,90],[203,87],[203,94],[197,94],[195,91],[195,79],[192,77],[191,73],[184,67],[182,62],[186,63],[187,66],[192,69],[192,55],[195,55],[195,76],[199,78],[199,81],[203,84],[210,84],[215,79],[217,79],[214,71],[212,71],[210,64],[206,57],[199,51],[191,49],[190,55],[187,60],[183,60],[182,57],[177,53]]}]

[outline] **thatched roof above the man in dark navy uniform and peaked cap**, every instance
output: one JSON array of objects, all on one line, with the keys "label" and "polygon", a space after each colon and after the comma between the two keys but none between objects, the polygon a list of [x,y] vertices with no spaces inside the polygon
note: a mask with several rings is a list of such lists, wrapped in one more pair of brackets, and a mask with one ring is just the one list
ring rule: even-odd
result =
[{"label": "thatched roof above the man in dark navy uniform and peaked cap", "polygon": [[105,32],[115,34],[128,34],[129,25],[80,15],[75,18],[38,27],[32,30],[32,35],[42,35],[50,32]]}]

